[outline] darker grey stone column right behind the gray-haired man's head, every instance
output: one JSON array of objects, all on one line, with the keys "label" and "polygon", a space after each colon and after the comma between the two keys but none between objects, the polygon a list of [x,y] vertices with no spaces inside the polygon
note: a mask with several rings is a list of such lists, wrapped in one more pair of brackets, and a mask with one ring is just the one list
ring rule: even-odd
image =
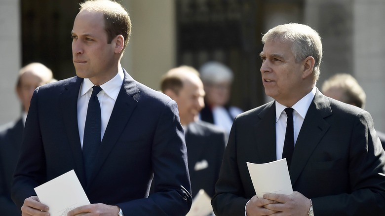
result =
[{"label": "darker grey stone column right behind the gray-haired man's head", "polygon": [[304,24],[322,38],[323,56],[317,87],[335,73],[353,74],[352,0],[306,0]]}]

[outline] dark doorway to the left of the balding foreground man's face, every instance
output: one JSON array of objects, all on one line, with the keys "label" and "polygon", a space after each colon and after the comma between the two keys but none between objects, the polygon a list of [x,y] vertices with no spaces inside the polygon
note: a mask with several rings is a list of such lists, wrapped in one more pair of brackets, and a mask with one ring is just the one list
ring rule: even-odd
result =
[{"label": "dark doorway to the left of the balding foreground man's face", "polygon": [[56,79],[75,75],[71,30],[80,0],[21,0],[22,64],[40,62]]}]

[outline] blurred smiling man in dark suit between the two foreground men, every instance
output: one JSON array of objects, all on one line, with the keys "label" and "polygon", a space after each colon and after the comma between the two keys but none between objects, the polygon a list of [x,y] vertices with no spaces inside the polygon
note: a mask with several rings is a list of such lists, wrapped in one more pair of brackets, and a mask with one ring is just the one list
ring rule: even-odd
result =
[{"label": "blurred smiling man in dark suit between the two foreground men", "polygon": [[225,131],[198,120],[204,107],[203,83],[192,67],[171,69],[162,78],[161,90],[178,104],[179,116],[185,129],[192,197],[204,189],[214,196],[225,151]]}]

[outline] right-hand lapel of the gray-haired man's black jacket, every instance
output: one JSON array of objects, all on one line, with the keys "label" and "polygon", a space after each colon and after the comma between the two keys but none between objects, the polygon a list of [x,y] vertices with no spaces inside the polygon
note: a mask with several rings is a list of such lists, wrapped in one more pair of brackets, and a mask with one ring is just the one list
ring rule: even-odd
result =
[{"label": "right-hand lapel of the gray-haired man's black jacket", "polygon": [[293,152],[290,166],[290,179],[295,184],[305,168],[314,148],[325,135],[330,125],[324,120],[332,114],[329,101],[318,90],[306,114],[304,123]]}]

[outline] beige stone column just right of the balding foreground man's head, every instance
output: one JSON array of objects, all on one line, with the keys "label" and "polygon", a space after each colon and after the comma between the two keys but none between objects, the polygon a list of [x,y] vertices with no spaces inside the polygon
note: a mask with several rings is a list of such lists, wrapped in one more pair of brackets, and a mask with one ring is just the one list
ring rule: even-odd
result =
[{"label": "beige stone column just right of the balding foreground man's head", "polygon": [[175,0],[126,0],[132,34],[122,66],[158,90],[161,76],[176,65]]}]

